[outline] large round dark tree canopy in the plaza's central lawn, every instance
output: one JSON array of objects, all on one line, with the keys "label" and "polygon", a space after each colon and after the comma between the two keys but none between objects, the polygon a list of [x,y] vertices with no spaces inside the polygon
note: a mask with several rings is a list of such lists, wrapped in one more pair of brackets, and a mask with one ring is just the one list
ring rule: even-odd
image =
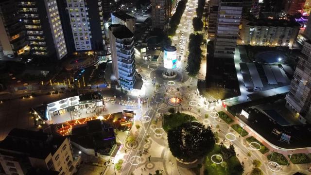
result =
[{"label": "large round dark tree canopy in the plaza's central lawn", "polygon": [[189,162],[204,157],[214,148],[216,139],[210,127],[194,124],[183,123],[169,130],[168,142],[174,157]]}]

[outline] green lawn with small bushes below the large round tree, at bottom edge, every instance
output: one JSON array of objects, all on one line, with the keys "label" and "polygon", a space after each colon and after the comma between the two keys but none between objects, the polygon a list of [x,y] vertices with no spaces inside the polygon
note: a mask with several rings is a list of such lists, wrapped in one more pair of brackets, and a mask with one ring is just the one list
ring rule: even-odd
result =
[{"label": "green lawn with small bushes below the large round tree, at bottom edge", "polygon": [[215,164],[210,160],[210,157],[215,154],[221,154],[218,145],[215,145],[214,149],[207,154],[207,157],[204,160],[204,175],[242,175],[242,165],[236,156],[233,156],[226,161],[228,164],[228,170],[225,171],[221,164]]}]

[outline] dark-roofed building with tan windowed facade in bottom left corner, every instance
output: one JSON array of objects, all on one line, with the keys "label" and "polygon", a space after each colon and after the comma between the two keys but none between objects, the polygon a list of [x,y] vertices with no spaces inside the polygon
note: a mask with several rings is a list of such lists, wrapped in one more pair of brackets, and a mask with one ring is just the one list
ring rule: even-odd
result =
[{"label": "dark-roofed building with tan windowed facade in bottom left corner", "polygon": [[0,142],[0,164],[6,175],[32,175],[32,168],[72,175],[81,161],[72,154],[67,137],[25,129],[11,130]]}]

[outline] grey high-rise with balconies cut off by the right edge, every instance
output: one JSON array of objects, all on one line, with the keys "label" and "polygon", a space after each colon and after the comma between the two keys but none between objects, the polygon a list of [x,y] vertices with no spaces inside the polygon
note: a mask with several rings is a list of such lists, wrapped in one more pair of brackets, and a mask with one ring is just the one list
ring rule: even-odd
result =
[{"label": "grey high-rise with balconies cut off by the right edge", "polygon": [[305,41],[290,92],[286,95],[286,107],[295,113],[299,121],[311,123],[311,41]]}]

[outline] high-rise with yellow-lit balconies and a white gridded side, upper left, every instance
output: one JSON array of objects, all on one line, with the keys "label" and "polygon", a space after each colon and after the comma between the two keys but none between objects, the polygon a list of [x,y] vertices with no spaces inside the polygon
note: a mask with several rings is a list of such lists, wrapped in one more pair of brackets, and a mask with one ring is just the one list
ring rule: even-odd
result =
[{"label": "high-rise with yellow-lit balconies and a white gridded side, upper left", "polygon": [[30,51],[37,56],[58,59],[67,54],[56,0],[16,0],[19,18],[24,24]]}]

